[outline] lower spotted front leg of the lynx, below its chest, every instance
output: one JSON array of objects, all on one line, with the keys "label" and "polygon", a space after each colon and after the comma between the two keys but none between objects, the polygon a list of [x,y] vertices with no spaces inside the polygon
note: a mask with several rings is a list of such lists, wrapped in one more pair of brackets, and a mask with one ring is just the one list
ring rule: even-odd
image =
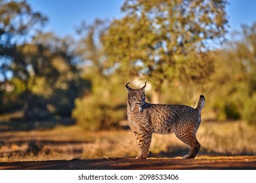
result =
[{"label": "lower spotted front leg of the lynx, below its chest", "polygon": [[150,148],[152,133],[135,133],[135,137],[140,149],[140,154],[136,159],[146,159]]}]

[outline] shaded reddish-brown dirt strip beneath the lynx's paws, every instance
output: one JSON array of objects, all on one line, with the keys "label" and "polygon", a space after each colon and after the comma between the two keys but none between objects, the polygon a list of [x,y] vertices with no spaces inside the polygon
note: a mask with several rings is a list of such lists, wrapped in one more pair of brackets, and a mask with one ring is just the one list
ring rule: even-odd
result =
[{"label": "shaded reddish-brown dirt strip beneath the lynx's paws", "polygon": [[0,169],[254,169],[256,156],[199,156],[196,159],[72,159],[0,163]]}]

